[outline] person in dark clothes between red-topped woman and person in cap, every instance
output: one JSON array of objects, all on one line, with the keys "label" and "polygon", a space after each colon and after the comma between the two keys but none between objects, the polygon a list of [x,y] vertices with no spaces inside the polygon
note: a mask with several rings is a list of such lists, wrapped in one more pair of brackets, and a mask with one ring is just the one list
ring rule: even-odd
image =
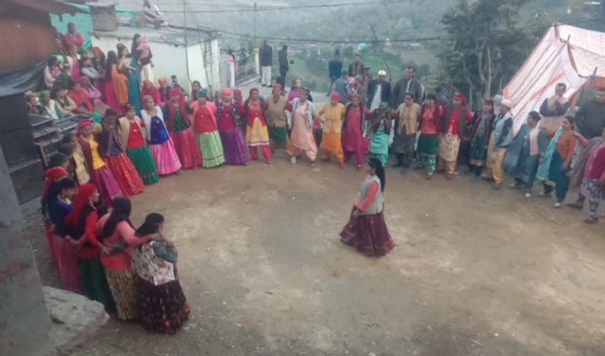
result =
[{"label": "person in dark clothes between red-topped woman and person in cap", "polygon": [[475,176],[480,177],[487,161],[487,148],[496,115],[494,101],[483,101],[481,111],[475,113],[470,136],[469,169]]}]

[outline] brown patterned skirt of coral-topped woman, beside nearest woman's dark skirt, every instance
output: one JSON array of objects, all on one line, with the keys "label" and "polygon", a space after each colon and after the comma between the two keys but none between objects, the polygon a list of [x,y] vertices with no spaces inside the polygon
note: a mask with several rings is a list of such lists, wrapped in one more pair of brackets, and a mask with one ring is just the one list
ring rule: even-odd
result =
[{"label": "brown patterned skirt of coral-topped woman, beside nearest woman's dark skirt", "polygon": [[105,270],[107,283],[116,302],[120,320],[134,320],[139,316],[136,275],[130,270]]}]

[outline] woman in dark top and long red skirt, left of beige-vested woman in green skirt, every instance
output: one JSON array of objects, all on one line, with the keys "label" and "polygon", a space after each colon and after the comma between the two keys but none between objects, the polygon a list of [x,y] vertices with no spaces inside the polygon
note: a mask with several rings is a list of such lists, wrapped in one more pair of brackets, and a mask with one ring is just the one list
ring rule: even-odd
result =
[{"label": "woman in dark top and long red skirt, left of beige-vested woman in green skirt", "polygon": [[132,196],[143,192],[143,180],[134,168],[130,158],[122,150],[120,140],[118,113],[107,109],[103,118],[102,131],[97,135],[97,142],[107,166],[116,178],[122,192]]}]

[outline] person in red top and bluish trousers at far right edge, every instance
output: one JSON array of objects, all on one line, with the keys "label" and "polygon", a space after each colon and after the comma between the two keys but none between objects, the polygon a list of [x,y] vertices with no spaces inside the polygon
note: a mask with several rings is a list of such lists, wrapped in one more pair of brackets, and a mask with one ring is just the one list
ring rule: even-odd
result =
[{"label": "person in red top and bluish trousers at far right edge", "polygon": [[588,142],[579,135],[578,138],[585,145],[585,149],[578,159],[578,161],[582,160],[581,163],[585,162],[582,170],[583,176],[576,202],[567,204],[567,206],[581,210],[584,207],[584,201],[588,198],[588,217],[584,222],[596,224],[599,222],[599,204],[605,196],[605,188],[603,188],[605,185],[605,131],[601,137],[595,137]]}]

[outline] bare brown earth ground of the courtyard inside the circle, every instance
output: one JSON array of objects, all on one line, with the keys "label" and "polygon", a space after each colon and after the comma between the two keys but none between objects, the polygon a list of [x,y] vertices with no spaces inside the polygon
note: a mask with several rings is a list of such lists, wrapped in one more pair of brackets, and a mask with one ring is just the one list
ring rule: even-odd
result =
[{"label": "bare brown earth ground of the courtyard inside the circle", "polygon": [[[338,235],[363,177],[280,154],[147,187],[133,222],[165,215],[192,317],[175,336],[111,321],[71,355],[605,355],[604,222],[388,170],[397,247],[370,259]],[[32,239],[53,284],[41,228]]]}]

